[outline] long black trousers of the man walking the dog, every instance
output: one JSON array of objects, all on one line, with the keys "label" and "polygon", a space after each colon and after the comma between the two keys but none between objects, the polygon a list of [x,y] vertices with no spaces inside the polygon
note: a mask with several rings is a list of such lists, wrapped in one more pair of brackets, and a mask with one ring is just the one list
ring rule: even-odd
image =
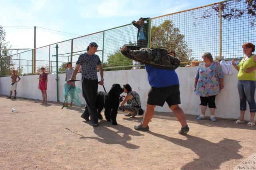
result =
[{"label": "long black trousers of the man walking the dog", "polygon": [[91,116],[92,123],[98,123],[99,115],[95,107],[98,93],[98,80],[88,80],[86,78],[82,78],[82,91],[86,101],[83,117],[85,119],[89,119],[89,116]]}]

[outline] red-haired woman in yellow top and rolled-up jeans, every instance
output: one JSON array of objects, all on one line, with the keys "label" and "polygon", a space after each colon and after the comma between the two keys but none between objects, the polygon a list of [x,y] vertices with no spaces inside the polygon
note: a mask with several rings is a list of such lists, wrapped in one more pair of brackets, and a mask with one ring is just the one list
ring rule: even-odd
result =
[{"label": "red-haired woman in yellow top and rolled-up jeans", "polygon": [[242,45],[245,57],[238,65],[235,65],[236,58],[232,60],[232,65],[238,70],[238,93],[240,98],[240,117],[235,123],[244,123],[244,112],[246,111],[246,100],[250,107],[250,122],[248,126],[255,125],[256,103],[254,100],[256,88],[256,55],[252,54],[255,51],[255,45],[252,43],[244,43]]}]

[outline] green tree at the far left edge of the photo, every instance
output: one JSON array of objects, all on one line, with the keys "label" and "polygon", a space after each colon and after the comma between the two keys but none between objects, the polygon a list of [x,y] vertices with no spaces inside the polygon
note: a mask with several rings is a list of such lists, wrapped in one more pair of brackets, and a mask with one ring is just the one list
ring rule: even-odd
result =
[{"label": "green tree at the far left edge of the photo", "polygon": [[5,39],[6,33],[3,29],[2,26],[0,26],[0,49],[4,49],[4,50],[0,50],[0,62],[1,62],[1,72],[2,72],[2,76],[6,76],[9,75],[9,68],[11,68],[12,66],[14,66],[14,64],[12,63],[12,56],[11,56],[11,52],[8,50],[8,45],[9,42],[6,42]]}]

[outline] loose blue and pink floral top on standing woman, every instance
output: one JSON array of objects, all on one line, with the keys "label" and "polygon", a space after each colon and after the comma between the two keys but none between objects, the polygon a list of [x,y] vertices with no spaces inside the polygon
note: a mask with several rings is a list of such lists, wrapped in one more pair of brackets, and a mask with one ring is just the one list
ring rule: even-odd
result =
[{"label": "loose blue and pink floral top on standing woman", "polygon": [[204,63],[199,64],[196,78],[196,95],[202,97],[215,96],[220,92],[220,78],[223,78],[222,67],[218,62],[212,62],[210,67],[206,67]]}]

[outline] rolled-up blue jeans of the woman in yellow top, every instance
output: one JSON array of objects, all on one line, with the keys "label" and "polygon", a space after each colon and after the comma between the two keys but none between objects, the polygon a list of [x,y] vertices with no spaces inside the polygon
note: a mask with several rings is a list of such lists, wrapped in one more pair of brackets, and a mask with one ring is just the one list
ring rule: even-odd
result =
[{"label": "rolled-up blue jeans of the woman in yellow top", "polygon": [[256,81],[253,80],[238,80],[237,83],[239,98],[240,98],[240,110],[246,110],[246,100],[248,101],[250,112],[256,112],[256,103],[254,100]]}]

